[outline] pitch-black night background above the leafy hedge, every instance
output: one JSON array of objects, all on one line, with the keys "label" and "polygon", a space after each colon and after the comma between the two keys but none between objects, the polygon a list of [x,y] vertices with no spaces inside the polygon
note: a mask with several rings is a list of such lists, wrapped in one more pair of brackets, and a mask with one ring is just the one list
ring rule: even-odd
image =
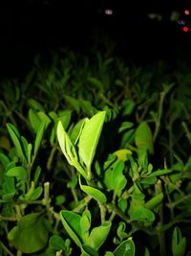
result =
[{"label": "pitch-black night background above the leafy hedge", "polygon": [[[189,59],[190,33],[170,20],[173,11],[182,15],[186,8],[189,1],[6,1],[0,7],[1,76],[23,75],[33,56],[48,49],[88,52],[94,40],[105,35],[116,42],[117,54],[124,59]],[[113,14],[105,14],[107,9]],[[148,18],[152,12],[162,19]]]}]

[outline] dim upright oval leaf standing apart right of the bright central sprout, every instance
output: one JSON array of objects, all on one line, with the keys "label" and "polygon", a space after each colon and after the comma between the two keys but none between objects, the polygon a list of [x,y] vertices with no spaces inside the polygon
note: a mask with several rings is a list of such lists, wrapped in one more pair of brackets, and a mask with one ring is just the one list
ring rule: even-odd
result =
[{"label": "dim upright oval leaf standing apart right of the bright central sprout", "polygon": [[153,136],[147,123],[142,122],[139,124],[136,129],[135,142],[139,154],[146,153],[147,151],[153,153]]}]

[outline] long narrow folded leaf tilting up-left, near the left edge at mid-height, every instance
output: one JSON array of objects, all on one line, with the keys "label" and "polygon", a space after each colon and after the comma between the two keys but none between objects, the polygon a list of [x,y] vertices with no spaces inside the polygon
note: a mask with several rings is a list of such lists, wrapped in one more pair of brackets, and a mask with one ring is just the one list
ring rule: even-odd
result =
[{"label": "long narrow folded leaf tilting up-left, near the left edge at mid-height", "polygon": [[18,156],[21,157],[22,160],[24,160],[25,154],[23,152],[23,149],[22,149],[22,146],[20,143],[20,134],[19,134],[18,130],[11,124],[7,124],[7,128],[11,135],[11,140],[16,148]]}]

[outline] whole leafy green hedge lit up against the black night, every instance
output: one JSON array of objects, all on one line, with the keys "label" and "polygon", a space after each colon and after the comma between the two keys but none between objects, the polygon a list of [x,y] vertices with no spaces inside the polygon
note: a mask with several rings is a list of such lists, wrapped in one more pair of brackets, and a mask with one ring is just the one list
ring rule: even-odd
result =
[{"label": "whole leafy green hedge lit up against the black night", "polygon": [[2,84],[0,254],[190,255],[189,75],[61,54]]}]

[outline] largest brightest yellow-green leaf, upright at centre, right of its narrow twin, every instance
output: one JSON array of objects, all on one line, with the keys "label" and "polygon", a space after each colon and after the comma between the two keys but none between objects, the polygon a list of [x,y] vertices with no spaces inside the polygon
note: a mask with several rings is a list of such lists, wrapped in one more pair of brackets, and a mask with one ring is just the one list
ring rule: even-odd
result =
[{"label": "largest brightest yellow-green leaf, upright at centre, right of its narrow twin", "polygon": [[106,112],[100,111],[90,120],[87,120],[79,137],[79,157],[91,169],[91,164],[96,153],[96,146],[104,124]]}]

